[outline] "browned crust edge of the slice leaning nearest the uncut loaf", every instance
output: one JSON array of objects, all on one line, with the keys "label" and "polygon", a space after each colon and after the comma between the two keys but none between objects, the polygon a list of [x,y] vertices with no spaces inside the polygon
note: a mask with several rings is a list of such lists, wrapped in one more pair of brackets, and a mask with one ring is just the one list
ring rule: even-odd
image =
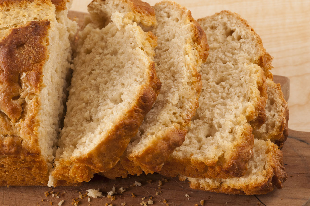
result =
[{"label": "browned crust edge of the slice leaning nearest the uncut loaf", "polygon": [[[60,159],[58,166],[52,172],[54,178],[69,183],[87,182],[94,173],[111,169],[117,163],[159,94],[161,82],[156,76],[154,62],[150,63],[149,71],[148,85],[144,85],[131,110],[115,125],[108,137],[85,156],[72,160]],[[57,182],[55,186],[60,184],[64,182]]]}]

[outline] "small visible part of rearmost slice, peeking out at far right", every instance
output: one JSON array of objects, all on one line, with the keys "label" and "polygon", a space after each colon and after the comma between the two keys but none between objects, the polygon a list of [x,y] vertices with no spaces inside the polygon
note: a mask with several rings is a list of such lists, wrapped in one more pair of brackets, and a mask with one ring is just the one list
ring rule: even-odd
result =
[{"label": "small visible part of rearmost slice, peeking out at far right", "polygon": [[253,134],[258,139],[270,139],[281,148],[288,136],[289,108],[281,85],[270,78],[267,78],[267,85],[266,121],[260,128],[253,126]]}]

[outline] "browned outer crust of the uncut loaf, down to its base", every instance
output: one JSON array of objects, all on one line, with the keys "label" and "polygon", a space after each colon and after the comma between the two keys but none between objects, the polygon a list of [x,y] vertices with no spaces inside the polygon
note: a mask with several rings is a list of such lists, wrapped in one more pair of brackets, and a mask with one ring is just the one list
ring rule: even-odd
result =
[{"label": "browned outer crust of the uncut loaf, down to its base", "polygon": [[38,143],[38,97],[47,61],[48,20],[12,28],[0,42],[1,185],[46,185],[47,160]]}]

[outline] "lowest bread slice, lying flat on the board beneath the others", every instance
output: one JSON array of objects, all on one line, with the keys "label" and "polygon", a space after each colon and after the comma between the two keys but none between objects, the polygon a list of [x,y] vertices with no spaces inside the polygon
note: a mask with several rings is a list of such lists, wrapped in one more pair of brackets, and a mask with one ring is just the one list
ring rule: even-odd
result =
[{"label": "lowest bread slice, lying flat on the board beneath the others", "polygon": [[[240,178],[227,179],[200,179],[187,178],[190,187],[212,192],[260,195],[274,189],[282,188],[287,174],[283,165],[283,154],[277,145],[270,142],[255,139],[253,146],[254,156],[250,159],[246,173]],[[184,181],[185,176],[180,176]]]}]

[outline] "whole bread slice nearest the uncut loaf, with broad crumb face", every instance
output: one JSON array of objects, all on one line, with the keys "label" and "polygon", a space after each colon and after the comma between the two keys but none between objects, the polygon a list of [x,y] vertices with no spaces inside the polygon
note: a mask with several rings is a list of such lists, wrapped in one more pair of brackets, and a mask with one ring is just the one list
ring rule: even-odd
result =
[{"label": "whole bread slice nearest the uncut loaf, with broad crumb face", "polygon": [[[49,186],[89,181],[94,173],[112,168],[159,93],[161,83],[153,61],[157,38],[133,22],[137,4],[142,3],[115,0],[130,9],[114,12],[111,22],[101,28],[93,4],[111,1],[93,1],[88,7],[91,22],[79,33],[67,113]],[[140,18],[141,24],[154,21],[154,12],[148,12],[152,10],[149,5],[139,10],[146,16]]]}]

